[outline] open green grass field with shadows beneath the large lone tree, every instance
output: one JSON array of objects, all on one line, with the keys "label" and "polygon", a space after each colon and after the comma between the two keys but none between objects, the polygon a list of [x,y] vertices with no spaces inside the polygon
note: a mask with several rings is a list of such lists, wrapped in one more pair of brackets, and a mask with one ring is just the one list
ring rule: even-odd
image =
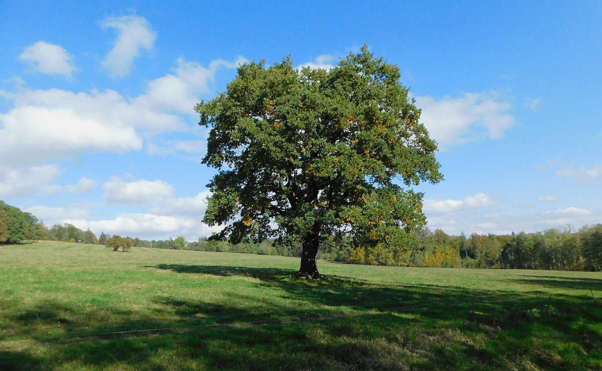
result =
[{"label": "open green grass field with shadows beneath the large lone tree", "polygon": [[599,272],[298,268],[0,246],[0,369],[602,369]]}]

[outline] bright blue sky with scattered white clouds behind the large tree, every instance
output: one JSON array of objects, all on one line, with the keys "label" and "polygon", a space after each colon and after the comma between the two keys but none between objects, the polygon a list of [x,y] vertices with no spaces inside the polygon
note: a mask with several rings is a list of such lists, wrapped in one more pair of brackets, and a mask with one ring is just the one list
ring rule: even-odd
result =
[{"label": "bright blue sky with scattered white clouds behind the large tree", "polygon": [[602,3],[196,3],[2,2],[0,200],[97,235],[207,236],[194,104],[245,61],[329,68],[366,43],[439,143],[430,228],[602,221]]}]

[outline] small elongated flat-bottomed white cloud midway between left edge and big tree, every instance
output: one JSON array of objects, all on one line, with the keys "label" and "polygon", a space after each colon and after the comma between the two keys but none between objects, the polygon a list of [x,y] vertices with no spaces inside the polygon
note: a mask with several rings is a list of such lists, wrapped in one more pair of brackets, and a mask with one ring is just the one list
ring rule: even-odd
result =
[{"label": "small elongated flat-bottomed white cloud midway between left edge and big tree", "polygon": [[163,180],[135,180],[124,182],[113,177],[102,185],[104,198],[110,203],[153,204],[170,198],[175,193],[173,186]]}]

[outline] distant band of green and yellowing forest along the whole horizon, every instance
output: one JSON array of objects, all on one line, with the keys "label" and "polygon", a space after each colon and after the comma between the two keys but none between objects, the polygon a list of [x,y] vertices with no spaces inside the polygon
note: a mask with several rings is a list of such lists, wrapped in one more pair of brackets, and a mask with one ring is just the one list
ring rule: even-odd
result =
[{"label": "distant band of green and yellowing forest along the whole horizon", "polygon": [[[176,250],[214,251],[299,257],[301,245],[278,245],[273,239],[261,243],[229,244],[199,238],[147,241],[129,236],[111,236],[104,232],[99,238],[71,224],[46,227],[31,213],[0,201],[0,244],[22,241],[65,241],[101,244],[122,248],[165,248]],[[577,231],[554,228],[535,233],[512,235],[450,236],[444,231],[423,228],[415,233],[413,246],[404,251],[384,247],[352,247],[349,243],[323,244],[318,259],[337,262],[442,268],[554,269],[564,271],[600,271],[602,269],[602,224],[585,225]]]}]

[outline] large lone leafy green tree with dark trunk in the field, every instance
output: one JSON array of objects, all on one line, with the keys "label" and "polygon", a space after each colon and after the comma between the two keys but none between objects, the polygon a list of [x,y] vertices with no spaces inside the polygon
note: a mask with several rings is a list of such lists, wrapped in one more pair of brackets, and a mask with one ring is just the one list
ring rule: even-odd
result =
[{"label": "large lone leafy green tree with dark trunk in the field", "polygon": [[311,277],[333,238],[408,248],[425,224],[423,194],[410,187],[442,180],[399,67],[367,46],[330,70],[244,64],[196,111],[211,128],[203,163],[219,170],[204,218],[224,225],[214,238],[300,241]]}]

